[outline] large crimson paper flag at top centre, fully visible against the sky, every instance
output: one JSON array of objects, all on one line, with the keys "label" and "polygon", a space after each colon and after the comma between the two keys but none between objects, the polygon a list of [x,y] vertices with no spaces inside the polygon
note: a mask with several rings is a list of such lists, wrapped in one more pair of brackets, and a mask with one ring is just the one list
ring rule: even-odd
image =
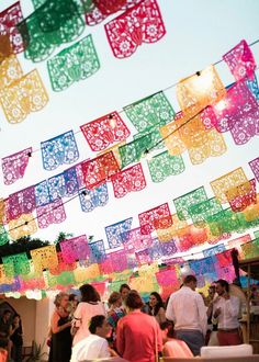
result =
[{"label": "large crimson paper flag at top centre, fully visible against the sky", "polygon": [[142,1],[104,27],[116,58],[130,57],[143,43],[156,43],[166,34],[156,0]]}]

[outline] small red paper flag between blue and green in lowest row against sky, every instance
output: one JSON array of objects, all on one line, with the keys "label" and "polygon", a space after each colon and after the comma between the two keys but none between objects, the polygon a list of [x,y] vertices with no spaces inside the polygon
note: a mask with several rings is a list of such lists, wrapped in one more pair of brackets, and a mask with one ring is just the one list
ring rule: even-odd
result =
[{"label": "small red paper flag between blue and green in lowest row against sky", "polygon": [[168,203],[138,214],[142,234],[150,234],[156,229],[166,229],[172,225]]}]

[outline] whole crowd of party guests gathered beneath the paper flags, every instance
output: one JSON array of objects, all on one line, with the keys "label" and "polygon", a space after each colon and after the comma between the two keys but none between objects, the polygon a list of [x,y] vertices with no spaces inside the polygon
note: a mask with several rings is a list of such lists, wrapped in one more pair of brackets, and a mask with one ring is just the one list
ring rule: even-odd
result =
[{"label": "whole crowd of party guests gathered beneath the paper flags", "polygon": [[159,355],[196,357],[205,344],[240,344],[240,301],[229,294],[228,283],[215,282],[206,298],[195,289],[196,278],[188,275],[166,304],[157,292],[145,304],[137,291],[123,284],[110,295],[108,307],[91,284],[80,287],[80,303],[74,295],[74,305],[66,293],[59,293],[50,321],[48,361],[120,355],[131,362],[150,362]]}]

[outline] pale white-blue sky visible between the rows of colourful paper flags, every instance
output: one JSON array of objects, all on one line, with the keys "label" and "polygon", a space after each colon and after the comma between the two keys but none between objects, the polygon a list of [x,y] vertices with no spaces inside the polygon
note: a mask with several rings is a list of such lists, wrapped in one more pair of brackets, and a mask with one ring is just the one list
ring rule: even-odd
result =
[{"label": "pale white-blue sky visible between the rows of colourful paper flags", "polygon": [[[13,1],[2,0],[0,11]],[[46,60],[33,64],[23,54],[19,55],[24,73],[37,68],[49,95],[48,104],[40,112],[30,114],[25,121],[12,125],[5,120],[0,109],[0,157],[5,157],[26,147],[41,147],[41,142],[58,136],[69,129],[79,131],[79,126],[98,118],[111,111],[121,111],[123,106],[140,100],[154,92],[166,89],[181,78],[185,78],[207,65],[221,59],[222,55],[245,38],[251,43],[259,38],[258,0],[158,0],[166,25],[166,36],[155,44],[143,44],[137,52],[125,59],[113,56],[108,43],[104,23],[86,26],[78,38],[92,34],[101,69],[91,78],[74,83],[63,92],[54,92],[47,73]],[[30,0],[21,1],[24,16],[32,11]],[[109,20],[112,18],[109,18]],[[108,21],[109,21],[108,20]],[[77,39],[77,41],[78,41]],[[56,49],[71,45],[65,44]],[[252,47],[259,63],[259,44]],[[216,67],[224,84],[234,78],[224,64]],[[179,111],[176,88],[166,92],[176,111]],[[122,114],[127,126],[133,125]],[[54,240],[59,231],[74,233],[75,236],[93,235],[94,240],[105,239],[104,227],[133,216],[133,227],[138,226],[138,214],[169,202],[174,213],[172,200],[198,186],[205,185],[209,196],[213,196],[210,181],[243,167],[248,179],[254,174],[248,161],[258,157],[258,139],[254,138],[244,146],[236,146],[228,134],[224,134],[228,150],[217,158],[209,158],[200,166],[192,166],[188,152],[183,160],[185,171],[172,176],[160,183],[153,183],[147,162],[142,160],[147,188],[137,193],[130,193],[123,199],[115,199],[112,184],[109,183],[110,201],[104,207],[91,213],[81,212],[79,200],[65,205],[67,219],[59,225],[38,229],[33,237]],[[133,139],[133,138],[130,138]],[[76,135],[80,159],[93,158],[94,155],[81,133]],[[0,171],[0,196],[36,184],[67,169],[63,165],[54,171],[43,169],[41,151],[34,152],[23,179],[12,185],[3,184]]]}]

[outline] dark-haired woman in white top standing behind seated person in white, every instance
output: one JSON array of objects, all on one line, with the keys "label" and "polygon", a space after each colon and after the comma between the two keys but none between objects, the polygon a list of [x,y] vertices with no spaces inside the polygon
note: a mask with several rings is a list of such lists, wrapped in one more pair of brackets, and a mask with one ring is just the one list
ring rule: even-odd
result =
[{"label": "dark-haired woman in white top standing behind seated person in white", "polygon": [[81,302],[74,313],[72,330],[76,330],[72,346],[89,336],[89,323],[93,316],[105,316],[105,309],[98,291],[91,284],[83,284],[79,289]]}]

